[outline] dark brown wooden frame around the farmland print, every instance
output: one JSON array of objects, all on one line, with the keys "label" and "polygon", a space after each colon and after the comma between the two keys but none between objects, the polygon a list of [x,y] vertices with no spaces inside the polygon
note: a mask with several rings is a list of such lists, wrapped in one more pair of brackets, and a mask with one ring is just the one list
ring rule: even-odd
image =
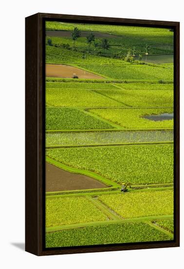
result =
[{"label": "dark brown wooden frame around the farmland print", "polygon": [[[111,246],[62,247],[46,249],[45,186],[43,177],[45,134],[45,62],[44,37],[46,20],[64,22],[103,23],[114,25],[172,27],[174,29],[174,240],[171,242],[130,243]],[[115,251],[180,246],[180,23],[135,19],[90,17],[37,13],[25,20],[26,96],[25,96],[25,250],[35,255],[55,255],[84,252]]]}]

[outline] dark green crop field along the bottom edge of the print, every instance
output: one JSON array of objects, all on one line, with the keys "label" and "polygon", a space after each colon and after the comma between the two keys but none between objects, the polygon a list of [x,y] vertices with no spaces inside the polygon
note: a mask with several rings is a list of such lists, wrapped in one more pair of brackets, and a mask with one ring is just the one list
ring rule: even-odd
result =
[{"label": "dark green crop field along the bottom edge of the print", "polygon": [[109,224],[46,234],[46,247],[89,246],[170,240],[165,233],[144,223]]}]

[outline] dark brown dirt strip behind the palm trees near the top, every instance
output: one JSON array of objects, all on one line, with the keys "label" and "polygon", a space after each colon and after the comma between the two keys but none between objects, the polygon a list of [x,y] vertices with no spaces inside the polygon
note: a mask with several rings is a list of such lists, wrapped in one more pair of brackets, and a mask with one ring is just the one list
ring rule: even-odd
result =
[{"label": "dark brown dirt strip behind the palm trees near the top", "polygon": [[[106,37],[119,37],[116,35],[110,35],[106,33],[101,33],[101,32],[90,32],[90,31],[81,31],[81,37],[87,37],[89,34],[92,33],[95,35],[96,38],[106,38]],[[72,37],[72,32],[71,31],[46,31],[46,35],[49,37]]]}]

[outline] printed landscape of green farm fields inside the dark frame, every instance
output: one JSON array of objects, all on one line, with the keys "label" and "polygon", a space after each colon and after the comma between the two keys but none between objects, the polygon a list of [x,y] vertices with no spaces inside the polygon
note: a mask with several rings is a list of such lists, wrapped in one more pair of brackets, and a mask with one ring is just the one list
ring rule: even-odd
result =
[{"label": "printed landscape of green farm fields inside the dark frame", "polygon": [[45,49],[46,247],[172,241],[173,32],[46,22]]}]

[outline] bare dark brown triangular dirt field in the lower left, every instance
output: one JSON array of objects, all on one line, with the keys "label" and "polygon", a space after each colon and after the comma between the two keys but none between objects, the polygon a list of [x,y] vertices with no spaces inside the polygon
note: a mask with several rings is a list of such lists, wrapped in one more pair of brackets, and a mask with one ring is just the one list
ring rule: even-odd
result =
[{"label": "bare dark brown triangular dirt field in the lower left", "polygon": [[47,162],[45,163],[45,167],[46,192],[85,190],[108,187],[96,179],[67,172]]}]

